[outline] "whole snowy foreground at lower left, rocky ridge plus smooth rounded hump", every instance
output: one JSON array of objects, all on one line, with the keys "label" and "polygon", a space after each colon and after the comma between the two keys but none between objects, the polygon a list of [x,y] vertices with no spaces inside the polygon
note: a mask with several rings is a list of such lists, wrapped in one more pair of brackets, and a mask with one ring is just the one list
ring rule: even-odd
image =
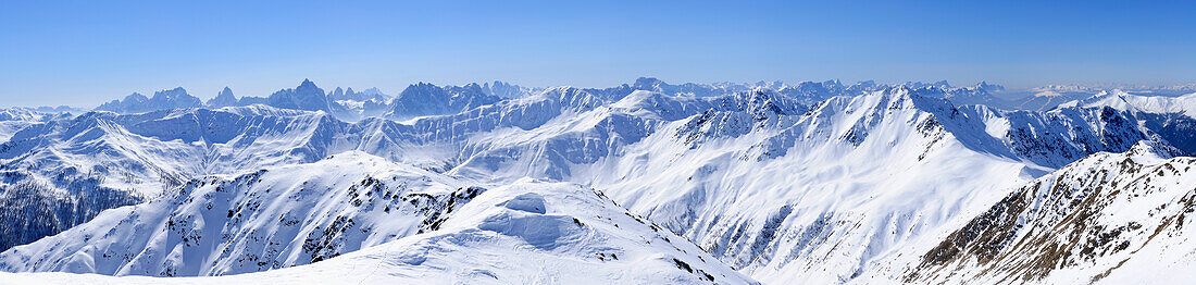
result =
[{"label": "whole snowy foreground at lower left, rocky ridge plus smooth rounded hump", "polygon": [[[600,192],[533,180],[466,184],[360,152],[199,178],[10,249],[0,267],[158,277],[267,271],[140,279],[147,283],[750,283]],[[292,266],[300,267],[277,269]]]}]

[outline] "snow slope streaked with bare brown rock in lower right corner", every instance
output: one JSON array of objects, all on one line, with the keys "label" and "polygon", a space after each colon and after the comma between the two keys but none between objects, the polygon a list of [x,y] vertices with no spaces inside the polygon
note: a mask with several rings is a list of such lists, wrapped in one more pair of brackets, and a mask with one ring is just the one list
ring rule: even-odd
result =
[{"label": "snow slope streaked with bare brown rock in lower right corner", "polygon": [[1035,180],[921,255],[904,280],[1123,284],[1160,272],[1191,280],[1196,159],[1177,153],[1142,142]]}]

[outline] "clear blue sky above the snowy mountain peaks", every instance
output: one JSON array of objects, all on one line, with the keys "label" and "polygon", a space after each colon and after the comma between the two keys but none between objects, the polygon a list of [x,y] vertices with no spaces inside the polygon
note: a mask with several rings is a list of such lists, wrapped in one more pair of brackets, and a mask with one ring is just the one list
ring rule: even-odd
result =
[{"label": "clear blue sky above the snowy mountain peaks", "polygon": [[0,0],[0,105],[506,80],[1196,81],[1180,1]]}]

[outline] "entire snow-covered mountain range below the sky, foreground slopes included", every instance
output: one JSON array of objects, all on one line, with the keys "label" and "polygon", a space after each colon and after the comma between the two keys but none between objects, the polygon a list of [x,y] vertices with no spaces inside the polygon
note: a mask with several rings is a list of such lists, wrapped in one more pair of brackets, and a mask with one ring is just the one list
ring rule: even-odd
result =
[{"label": "entire snow-covered mountain range below the sky, foreground slopes included", "polygon": [[1002,92],[640,78],[420,83],[390,97],[304,80],[206,103],[173,89],[78,115],[11,108],[0,269],[42,273],[0,275],[783,284],[1190,272],[1194,95],[1112,90],[1013,109],[1029,101]]}]

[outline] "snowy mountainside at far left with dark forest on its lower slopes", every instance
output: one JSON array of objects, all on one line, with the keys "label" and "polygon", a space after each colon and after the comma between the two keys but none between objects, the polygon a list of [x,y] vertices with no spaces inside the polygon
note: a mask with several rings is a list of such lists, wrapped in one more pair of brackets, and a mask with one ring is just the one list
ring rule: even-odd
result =
[{"label": "snowy mountainside at far left with dark forest on its lower slopes", "polygon": [[[323,159],[343,123],[321,113],[243,107],[89,113],[23,128],[0,144],[0,248],[207,174]],[[341,150],[347,150],[344,146]]]}]

